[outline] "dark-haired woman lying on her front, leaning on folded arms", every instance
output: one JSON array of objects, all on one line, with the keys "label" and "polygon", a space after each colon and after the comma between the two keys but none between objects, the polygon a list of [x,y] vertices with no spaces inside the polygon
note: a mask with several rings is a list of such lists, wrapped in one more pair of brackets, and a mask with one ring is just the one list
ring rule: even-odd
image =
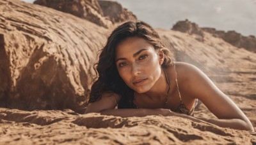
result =
[{"label": "dark-haired woman lying on her front, leaning on folded arms", "polygon": [[[95,64],[86,113],[182,116],[220,127],[253,130],[245,114],[195,66],[174,62],[150,25],[125,22],[109,36]],[[200,99],[218,119],[195,118]],[[115,109],[115,107],[118,109]]]}]

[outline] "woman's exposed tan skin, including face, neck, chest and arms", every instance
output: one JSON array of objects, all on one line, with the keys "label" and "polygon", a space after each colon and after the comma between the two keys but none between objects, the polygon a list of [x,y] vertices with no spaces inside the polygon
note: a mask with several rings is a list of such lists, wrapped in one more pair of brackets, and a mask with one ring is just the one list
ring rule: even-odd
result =
[{"label": "woman's exposed tan skin, including face, neck, chest and arms", "polygon": [[[116,46],[116,67],[126,85],[134,90],[134,104],[139,109],[115,109],[120,97],[115,93],[104,93],[100,100],[87,107],[86,113],[122,117],[159,114],[181,116],[197,122],[206,121],[220,127],[254,132],[252,123],[241,109],[221,92],[204,72],[184,62],[175,63],[182,102],[190,110],[195,99],[199,99],[218,119],[195,118],[173,112],[180,106],[176,74],[174,65],[165,69],[161,67],[163,60],[163,51],[155,50],[154,46],[143,38],[131,37],[119,43]],[[166,79],[170,82],[169,92]]]}]

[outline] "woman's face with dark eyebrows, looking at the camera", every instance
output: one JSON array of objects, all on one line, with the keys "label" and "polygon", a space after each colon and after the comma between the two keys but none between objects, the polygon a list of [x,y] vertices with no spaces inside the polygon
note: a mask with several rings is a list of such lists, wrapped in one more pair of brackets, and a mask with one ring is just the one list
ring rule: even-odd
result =
[{"label": "woman's face with dark eyebrows, looking at the camera", "polygon": [[[143,38],[131,37],[116,46],[116,67],[125,84],[138,93],[145,93],[161,75],[159,53]],[[163,58],[160,58],[163,59]]]}]

